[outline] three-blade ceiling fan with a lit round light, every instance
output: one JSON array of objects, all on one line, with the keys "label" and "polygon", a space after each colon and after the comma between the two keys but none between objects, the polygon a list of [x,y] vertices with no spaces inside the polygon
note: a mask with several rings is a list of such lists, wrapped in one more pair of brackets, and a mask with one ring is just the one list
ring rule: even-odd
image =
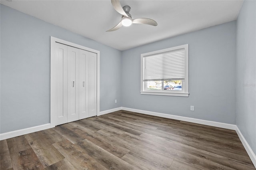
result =
[{"label": "three-blade ceiling fan with a lit round light", "polygon": [[137,19],[132,20],[132,16],[129,13],[131,10],[130,6],[126,5],[126,6],[122,7],[119,0],[111,0],[111,3],[112,3],[112,6],[114,7],[114,9],[119,14],[122,14],[122,19],[116,26],[114,26],[107,32],[116,31],[119,28],[121,28],[122,26],[127,27],[127,26],[130,26],[131,24],[148,24],[151,26],[157,26],[157,22],[152,19],[149,19],[149,18],[137,18]]}]

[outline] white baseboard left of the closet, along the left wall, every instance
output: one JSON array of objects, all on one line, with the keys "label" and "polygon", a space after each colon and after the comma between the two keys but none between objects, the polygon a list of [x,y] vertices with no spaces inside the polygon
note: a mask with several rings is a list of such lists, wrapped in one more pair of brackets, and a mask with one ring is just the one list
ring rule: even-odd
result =
[{"label": "white baseboard left of the closet, along the left wall", "polygon": [[13,138],[16,136],[21,136],[24,134],[29,134],[32,132],[38,132],[40,130],[45,130],[51,128],[50,123],[44,124],[44,125],[39,125],[36,127],[30,127],[30,128],[24,128],[24,129],[20,129],[20,130],[14,130],[11,132],[6,132],[6,133],[1,133],[0,134],[0,140],[4,140],[4,139],[8,139],[8,138]]}]

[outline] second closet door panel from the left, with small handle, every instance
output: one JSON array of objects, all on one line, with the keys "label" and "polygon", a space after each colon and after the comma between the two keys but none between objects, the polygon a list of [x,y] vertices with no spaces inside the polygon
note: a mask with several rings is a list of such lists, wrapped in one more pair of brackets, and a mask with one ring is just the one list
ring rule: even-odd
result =
[{"label": "second closet door panel from the left, with small handle", "polygon": [[68,122],[79,120],[79,49],[68,46]]}]

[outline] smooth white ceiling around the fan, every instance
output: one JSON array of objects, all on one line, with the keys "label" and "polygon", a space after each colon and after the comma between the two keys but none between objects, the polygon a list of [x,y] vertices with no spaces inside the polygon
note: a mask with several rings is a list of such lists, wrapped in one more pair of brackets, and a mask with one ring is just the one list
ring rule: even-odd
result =
[{"label": "smooth white ceiling around the fan", "polygon": [[132,19],[151,18],[158,26],[132,24],[106,32],[121,14],[110,0],[1,0],[1,4],[121,51],[236,20],[241,0],[121,0]]}]

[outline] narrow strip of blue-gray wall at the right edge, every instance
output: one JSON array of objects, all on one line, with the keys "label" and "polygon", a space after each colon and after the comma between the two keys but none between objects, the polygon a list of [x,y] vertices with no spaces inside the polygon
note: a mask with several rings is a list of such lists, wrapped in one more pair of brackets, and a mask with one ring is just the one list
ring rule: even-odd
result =
[{"label": "narrow strip of blue-gray wall at the right edge", "polygon": [[256,154],[256,1],[240,10],[236,52],[236,125]]}]

